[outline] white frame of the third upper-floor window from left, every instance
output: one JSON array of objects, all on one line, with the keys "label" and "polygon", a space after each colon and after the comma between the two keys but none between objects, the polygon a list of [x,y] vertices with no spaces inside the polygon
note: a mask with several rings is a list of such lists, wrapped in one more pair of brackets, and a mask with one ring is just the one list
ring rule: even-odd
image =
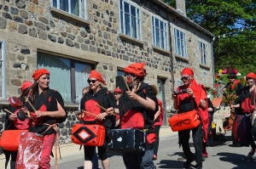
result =
[{"label": "white frame of the third upper-floor window from left", "polygon": [[[166,24],[166,31],[165,31],[166,32],[166,42],[165,42],[166,47],[164,47],[164,48],[158,47],[158,46],[156,46],[156,43],[154,43],[154,40],[156,41],[156,32],[155,32],[155,29],[154,29],[155,26],[153,25],[153,22],[152,22],[153,18],[154,18],[154,20],[157,19],[157,20],[162,21],[164,24]],[[161,48],[161,49],[164,49],[164,50],[168,51],[170,49],[169,48],[169,29],[168,29],[169,25],[168,25],[168,22],[166,20],[161,19],[159,16],[156,16],[156,15],[152,14],[151,15],[151,25],[152,25],[152,45],[156,48]]]}]

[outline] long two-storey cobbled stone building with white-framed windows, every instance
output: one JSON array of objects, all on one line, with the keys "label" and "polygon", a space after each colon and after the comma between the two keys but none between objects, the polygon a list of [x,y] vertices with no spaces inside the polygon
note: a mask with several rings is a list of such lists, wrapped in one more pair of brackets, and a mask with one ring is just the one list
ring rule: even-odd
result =
[{"label": "long two-storey cobbled stone building with white-framed windows", "polygon": [[[172,90],[189,66],[195,79],[212,87],[212,33],[159,0],[0,0],[0,107],[19,96],[20,85],[45,67],[50,87],[68,110],[60,125],[61,141],[70,142],[81,91],[90,70],[102,73],[109,90],[122,68],[145,62],[145,82],[157,85],[166,110]],[[4,112],[0,113],[3,130]]]}]

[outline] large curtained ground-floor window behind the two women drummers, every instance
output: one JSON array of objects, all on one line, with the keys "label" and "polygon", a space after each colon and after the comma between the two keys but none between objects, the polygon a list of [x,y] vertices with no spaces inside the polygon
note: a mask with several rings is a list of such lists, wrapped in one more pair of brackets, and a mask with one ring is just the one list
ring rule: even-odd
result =
[{"label": "large curtained ground-floor window behind the two women drummers", "polygon": [[83,88],[89,86],[87,80],[92,65],[51,54],[38,53],[38,69],[42,67],[50,72],[49,87],[61,93],[65,102],[80,102]]}]

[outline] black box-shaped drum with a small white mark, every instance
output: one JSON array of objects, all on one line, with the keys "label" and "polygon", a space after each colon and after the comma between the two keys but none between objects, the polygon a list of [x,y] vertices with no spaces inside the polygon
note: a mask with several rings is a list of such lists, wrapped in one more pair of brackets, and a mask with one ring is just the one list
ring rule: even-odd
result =
[{"label": "black box-shaped drum with a small white mark", "polygon": [[111,138],[108,150],[116,152],[143,152],[146,146],[146,132],[139,129],[113,129],[108,132]]}]

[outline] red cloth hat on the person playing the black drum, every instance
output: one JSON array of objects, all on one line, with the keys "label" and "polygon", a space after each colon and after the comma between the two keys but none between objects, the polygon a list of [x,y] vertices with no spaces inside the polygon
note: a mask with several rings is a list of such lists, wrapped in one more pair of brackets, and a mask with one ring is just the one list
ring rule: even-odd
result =
[{"label": "red cloth hat on the person playing the black drum", "polygon": [[128,65],[124,68],[125,73],[130,73],[139,77],[145,76],[144,72],[145,63],[135,63]]}]

